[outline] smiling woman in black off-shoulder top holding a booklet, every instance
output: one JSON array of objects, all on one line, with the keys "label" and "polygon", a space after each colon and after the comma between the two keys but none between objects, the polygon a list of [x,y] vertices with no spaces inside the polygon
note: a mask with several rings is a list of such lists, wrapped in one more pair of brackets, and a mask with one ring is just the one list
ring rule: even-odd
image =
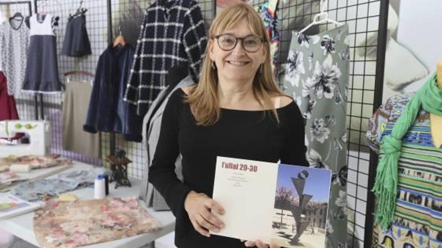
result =
[{"label": "smiling woman in black off-shoulder top holding a booklet", "polygon": [[[234,224],[213,214],[232,210],[211,199],[216,157],[307,165],[303,119],[275,84],[269,39],[252,7],[228,7],[207,40],[198,84],[175,91],[167,102],[148,178],[176,216],[176,246],[269,247],[210,234]],[[183,181],[174,173],[178,154]]]}]

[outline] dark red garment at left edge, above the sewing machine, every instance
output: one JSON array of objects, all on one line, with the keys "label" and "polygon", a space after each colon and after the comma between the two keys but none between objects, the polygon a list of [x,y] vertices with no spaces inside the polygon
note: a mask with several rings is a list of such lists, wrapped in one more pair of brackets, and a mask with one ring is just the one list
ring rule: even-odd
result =
[{"label": "dark red garment at left edge, above the sewing machine", "polygon": [[0,72],[0,121],[18,119],[16,100],[8,95],[6,76]]}]

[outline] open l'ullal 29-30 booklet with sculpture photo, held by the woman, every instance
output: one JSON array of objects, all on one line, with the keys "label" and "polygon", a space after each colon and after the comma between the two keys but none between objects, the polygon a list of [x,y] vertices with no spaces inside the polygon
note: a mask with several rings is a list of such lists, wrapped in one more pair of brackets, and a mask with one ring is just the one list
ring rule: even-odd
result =
[{"label": "open l'ullal 29-30 booklet with sculpture photo, held by the woman", "polygon": [[212,198],[226,213],[220,232],[283,247],[325,246],[332,173],[327,169],[217,157]]}]

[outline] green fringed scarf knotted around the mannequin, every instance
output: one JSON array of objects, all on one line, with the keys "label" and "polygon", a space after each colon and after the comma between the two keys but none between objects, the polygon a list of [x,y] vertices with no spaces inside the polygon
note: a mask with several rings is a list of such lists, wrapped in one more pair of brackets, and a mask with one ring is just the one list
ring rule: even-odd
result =
[{"label": "green fringed scarf knotted around the mannequin", "polygon": [[423,108],[425,111],[442,116],[442,92],[437,88],[434,74],[416,92],[405,106],[401,116],[397,119],[390,135],[381,142],[381,152],[384,153],[376,169],[376,181],[373,192],[378,200],[376,221],[382,228],[387,228],[393,221],[397,194],[397,161],[400,156],[402,137],[413,125],[417,114]]}]

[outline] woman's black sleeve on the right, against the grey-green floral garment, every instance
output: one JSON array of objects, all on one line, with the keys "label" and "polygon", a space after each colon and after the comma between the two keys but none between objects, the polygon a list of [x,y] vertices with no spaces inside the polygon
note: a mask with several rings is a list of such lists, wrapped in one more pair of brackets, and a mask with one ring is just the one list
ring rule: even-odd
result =
[{"label": "woman's black sleeve on the right, against the grey-green floral garment", "polygon": [[292,165],[308,166],[305,158],[307,148],[305,147],[304,118],[298,105],[294,102],[286,108],[287,111],[281,116],[281,123],[285,129],[285,145],[281,155],[281,163]]}]

